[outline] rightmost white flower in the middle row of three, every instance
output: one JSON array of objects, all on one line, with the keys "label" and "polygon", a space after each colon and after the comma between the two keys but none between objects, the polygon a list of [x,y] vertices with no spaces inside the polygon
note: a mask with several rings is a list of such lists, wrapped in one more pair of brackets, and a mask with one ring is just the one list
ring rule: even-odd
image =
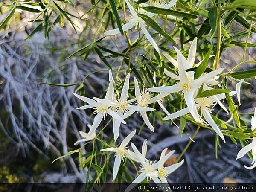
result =
[{"label": "rightmost white flower in the middle row of three", "polygon": [[[150,105],[151,103],[154,103],[154,102],[166,97],[167,95],[169,95],[169,93],[163,93],[163,94],[160,94],[158,96],[151,98],[152,94],[149,93],[147,90],[143,90],[141,93],[138,81],[135,77],[134,77],[134,88],[135,88],[135,96],[136,96],[136,100],[137,100],[137,105],[139,105],[141,107],[148,107],[148,105]],[[140,111],[140,115],[142,116],[142,118],[143,118],[145,124],[148,126],[148,128],[154,132],[154,127],[148,119],[147,112]]]}]

